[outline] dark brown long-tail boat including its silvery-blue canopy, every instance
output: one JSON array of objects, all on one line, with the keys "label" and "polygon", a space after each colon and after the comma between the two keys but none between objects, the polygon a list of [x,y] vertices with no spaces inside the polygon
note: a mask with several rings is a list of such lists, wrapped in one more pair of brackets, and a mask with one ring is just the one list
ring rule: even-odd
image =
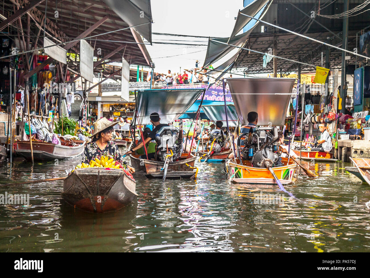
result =
[{"label": "dark brown long-tail boat including its silvery-blue canopy", "polygon": [[[140,126],[151,124],[149,115],[153,111],[161,115],[161,123],[172,123],[183,115],[204,92],[205,89],[154,89],[139,91],[138,95],[135,93],[137,116],[134,118],[134,125],[136,126],[136,123]],[[180,132],[182,132],[182,129],[179,129],[176,133],[180,134]],[[137,145],[137,142],[135,142],[135,145]],[[180,156],[179,153],[181,150],[178,145],[176,146],[172,146],[172,148],[171,146],[167,146],[166,153],[170,153],[170,151],[172,153],[173,149],[173,153]],[[176,157],[174,159],[175,161],[172,161],[172,158],[168,160],[163,159],[164,161],[140,159],[140,155],[137,153],[132,153],[129,157],[131,166],[135,170],[143,172],[148,178],[162,179],[165,181],[165,179],[188,179],[192,176],[196,177],[198,173],[198,170],[194,171],[196,157],[190,156],[187,158],[187,156],[188,153],[182,153],[180,157],[176,155],[174,156]]]}]

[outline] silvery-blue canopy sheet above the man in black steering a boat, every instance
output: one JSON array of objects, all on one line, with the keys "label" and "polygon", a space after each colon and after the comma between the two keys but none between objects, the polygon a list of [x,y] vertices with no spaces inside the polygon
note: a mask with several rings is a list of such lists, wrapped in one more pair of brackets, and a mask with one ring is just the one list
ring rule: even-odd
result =
[{"label": "silvery-blue canopy sheet above the man in black steering a boat", "polygon": [[150,114],[157,112],[161,123],[171,123],[184,114],[205,89],[160,89],[139,91],[137,111],[142,125],[151,124]]}]

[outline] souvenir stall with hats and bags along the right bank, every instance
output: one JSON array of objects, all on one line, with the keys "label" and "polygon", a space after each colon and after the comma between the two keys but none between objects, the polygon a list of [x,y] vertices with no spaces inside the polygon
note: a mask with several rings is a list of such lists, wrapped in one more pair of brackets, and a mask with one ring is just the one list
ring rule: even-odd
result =
[{"label": "souvenir stall with hats and bags along the right bank", "polygon": [[[334,73],[335,75],[338,75],[338,73]],[[326,123],[326,129],[332,137],[333,146],[336,140],[341,139],[370,140],[370,67],[356,69],[353,81],[349,75],[347,75],[347,81],[345,113],[339,113],[342,109],[342,98],[339,94],[340,85],[334,86],[336,89],[333,93],[334,82],[330,82],[327,96],[324,94],[324,85],[322,89],[317,85],[307,85],[309,88],[306,88],[303,102],[302,95],[299,95],[298,99],[296,136],[300,137],[302,126],[303,141],[310,140],[310,138],[317,139],[321,134],[319,124]],[[335,84],[337,84],[337,81]],[[303,117],[300,113],[302,106],[304,110]],[[292,108],[295,108],[295,100],[292,100],[290,115],[286,119],[288,134],[292,132],[294,124]],[[302,125],[300,123],[301,119],[303,119]],[[296,138],[296,140],[299,139]]]}]

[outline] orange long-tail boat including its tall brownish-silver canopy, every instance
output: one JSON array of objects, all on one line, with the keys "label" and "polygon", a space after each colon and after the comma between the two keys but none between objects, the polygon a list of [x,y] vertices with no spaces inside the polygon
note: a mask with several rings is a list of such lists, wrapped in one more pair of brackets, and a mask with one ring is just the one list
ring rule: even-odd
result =
[{"label": "orange long-tail boat including its tall brownish-silver canopy", "polygon": [[[277,127],[282,127],[284,125],[286,118],[285,111],[290,102],[290,94],[295,82],[294,79],[226,78],[226,80],[229,84],[236,113],[242,125],[248,124],[247,115],[250,111],[258,111],[258,124],[261,126],[269,126],[269,130],[274,128],[276,130],[275,132],[277,132]],[[223,86],[225,86],[225,83],[223,83]],[[262,131],[268,130],[266,128],[268,127],[256,127],[256,129]],[[238,153],[240,152],[241,136],[242,135],[239,135],[237,143]],[[272,142],[273,140],[270,141],[270,143]],[[256,146],[253,148],[256,148]],[[261,149],[256,150],[256,152],[260,151]],[[230,180],[233,183],[278,184],[281,188],[282,184],[293,182],[293,175],[297,164],[292,159],[281,157],[283,165],[273,167],[272,160],[268,156],[263,155],[265,159],[261,159],[260,161],[262,163],[266,160],[266,164],[263,163],[263,165],[266,166],[253,167],[249,159],[244,159],[243,156],[240,155],[238,156],[240,159],[235,158],[227,160],[225,164],[225,170],[231,174]],[[252,157],[254,157],[254,155]],[[250,159],[252,159],[252,157],[250,157]]]}]

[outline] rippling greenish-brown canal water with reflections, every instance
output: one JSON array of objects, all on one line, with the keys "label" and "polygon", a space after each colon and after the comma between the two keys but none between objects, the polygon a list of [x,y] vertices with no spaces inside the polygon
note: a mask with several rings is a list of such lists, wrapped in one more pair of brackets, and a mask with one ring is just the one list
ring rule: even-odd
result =
[{"label": "rippling greenish-brown canal water with reflections", "polygon": [[[124,150],[122,150],[124,152]],[[81,157],[59,163],[0,165],[0,184],[65,176]],[[198,179],[149,180],[135,174],[129,206],[104,214],[65,204],[63,181],[0,187],[30,194],[29,205],[0,205],[1,252],[366,252],[370,187],[349,164],[308,163],[285,186],[232,184],[222,164],[198,164]]]}]

